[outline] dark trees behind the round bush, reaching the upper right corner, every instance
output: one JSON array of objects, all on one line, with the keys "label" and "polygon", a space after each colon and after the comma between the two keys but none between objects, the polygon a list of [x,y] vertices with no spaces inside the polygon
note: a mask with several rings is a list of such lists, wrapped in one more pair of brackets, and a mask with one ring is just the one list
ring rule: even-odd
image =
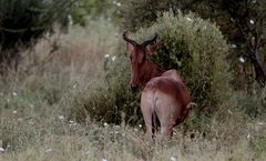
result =
[{"label": "dark trees behind the round bush, reaching the upper right corner", "polygon": [[[234,88],[250,93],[255,80],[266,83],[266,1],[258,0],[126,0],[122,6],[123,26],[130,30],[151,26],[163,11],[177,14],[193,11],[216,22],[232,44],[228,61]],[[241,60],[241,61],[239,61]],[[243,62],[244,61],[244,62]]]}]

